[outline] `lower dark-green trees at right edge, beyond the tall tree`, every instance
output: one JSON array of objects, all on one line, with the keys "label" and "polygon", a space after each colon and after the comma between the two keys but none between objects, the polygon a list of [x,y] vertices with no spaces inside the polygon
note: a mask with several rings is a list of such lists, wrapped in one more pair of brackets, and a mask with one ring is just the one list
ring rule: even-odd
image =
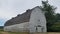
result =
[{"label": "lower dark-green trees at right edge, beyond the tall tree", "polygon": [[51,27],[52,32],[60,32],[60,14],[59,13],[55,15],[55,20],[56,22]]}]

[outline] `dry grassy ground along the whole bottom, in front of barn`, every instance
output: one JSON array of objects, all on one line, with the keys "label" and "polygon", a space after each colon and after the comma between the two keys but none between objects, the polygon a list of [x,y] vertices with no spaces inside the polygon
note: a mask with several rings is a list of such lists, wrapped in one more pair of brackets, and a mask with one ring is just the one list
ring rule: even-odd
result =
[{"label": "dry grassy ground along the whole bottom, in front of barn", "polygon": [[[29,34],[28,32],[5,32],[0,29],[0,34]],[[33,33],[33,34],[60,34],[60,32]]]}]

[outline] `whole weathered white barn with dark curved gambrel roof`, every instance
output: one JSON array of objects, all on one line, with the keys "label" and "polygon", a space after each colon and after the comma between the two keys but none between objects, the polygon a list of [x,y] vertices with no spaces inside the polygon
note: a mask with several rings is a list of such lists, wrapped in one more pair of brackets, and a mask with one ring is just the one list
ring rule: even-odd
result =
[{"label": "whole weathered white barn with dark curved gambrel roof", "polygon": [[40,6],[28,9],[25,13],[6,21],[4,31],[47,32],[44,12]]}]

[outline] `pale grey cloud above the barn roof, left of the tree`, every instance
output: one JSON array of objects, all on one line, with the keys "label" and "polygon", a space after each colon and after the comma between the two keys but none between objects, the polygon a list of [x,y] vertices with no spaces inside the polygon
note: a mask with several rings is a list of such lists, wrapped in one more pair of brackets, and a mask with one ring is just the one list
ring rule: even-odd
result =
[{"label": "pale grey cloud above the barn roof, left of the tree", "polygon": [[38,0],[0,0],[0,17],[10,19],[39,4]]}]

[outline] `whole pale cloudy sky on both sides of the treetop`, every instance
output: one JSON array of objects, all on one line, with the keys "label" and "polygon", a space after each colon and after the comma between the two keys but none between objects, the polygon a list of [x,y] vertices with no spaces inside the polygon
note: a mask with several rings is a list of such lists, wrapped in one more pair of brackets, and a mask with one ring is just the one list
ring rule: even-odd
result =
[{"label": "whole pale cloudy sky on both sides of the treetop", "polygon": [[[27,9],[41,6],[41,1],[42,0],[0,0],[0,26],[4,26],[7,20],[24,13]],[[56,13],[60,13],[60,0],[48,1],[49,4],[57,7]]]}]

